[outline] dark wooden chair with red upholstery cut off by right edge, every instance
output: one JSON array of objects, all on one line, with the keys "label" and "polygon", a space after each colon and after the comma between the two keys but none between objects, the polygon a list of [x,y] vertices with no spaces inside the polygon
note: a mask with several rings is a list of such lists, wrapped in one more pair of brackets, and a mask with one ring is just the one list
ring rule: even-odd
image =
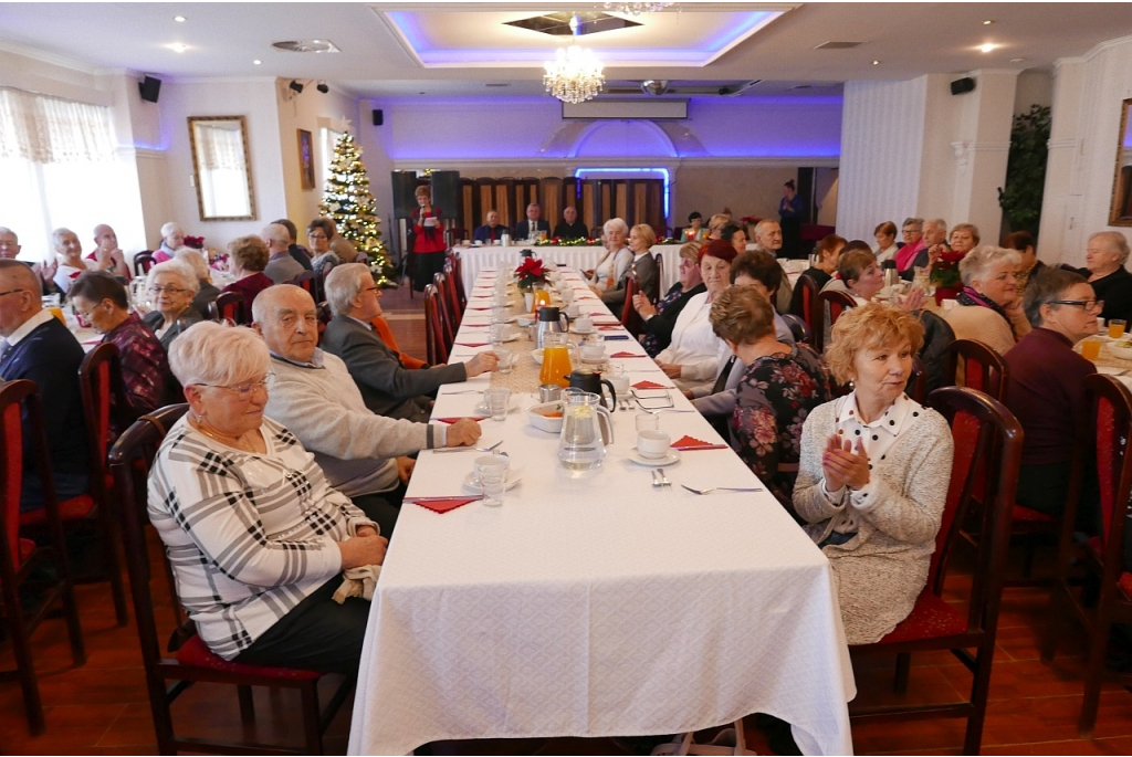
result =
[{"label": "dark wooden chair with red upholstery cut off by right edge", "polygon": [[[1065,504],[1062,517],[1061,545],[1049,596],[1048,628],[1041,646],[1041,659],[1053,660],[1057,642],[1070,618],[1075,618],[1089,639],[1089,660],[1084,671],[1084,702],[1078,720],[1078,733],[1091,739],[1100,702],[1100,685],[1105,678],[1105,654],[1113,623],[1132,623],[1132,573],[1124,565],[1124,530],[1132,493],[1132,393],[1110,376],[1094,375],[1084,380],[1092,399],[1096,419],[1097,474],[1100,484],[1101,533],[1089,540],[1087,547],[1077,548],[1073,524],[1077,518],[1080,491],[1080,463],[1077,461],[1073,492]],[[1079,445],[1079,449],[1086,445]],[[1091,445],[1090,445],[1091,446]],[[1096,602],[1083,597],[1080,576],[1074,564],[1099,580],[1100,592]],[[1121,683],[1132,685],[1132,674],[1117,676]]]}]

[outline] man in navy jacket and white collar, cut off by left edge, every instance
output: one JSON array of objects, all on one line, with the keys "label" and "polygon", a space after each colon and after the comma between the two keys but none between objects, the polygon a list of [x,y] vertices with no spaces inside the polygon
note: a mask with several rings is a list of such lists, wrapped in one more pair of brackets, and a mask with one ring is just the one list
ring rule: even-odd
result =
[{"label": "man in navy jacket and white collar, cut off by left edge", "polygon": [[[35,272],[18,260],[0,260],[0,379],[28,379],[38,387],[55,497],[65,500],[87,489],[86,432],[78,388],[84,353],[67,327],[43,309],[42,296]],[[43,506],[32,433],[25,413],[20,510]]]}]

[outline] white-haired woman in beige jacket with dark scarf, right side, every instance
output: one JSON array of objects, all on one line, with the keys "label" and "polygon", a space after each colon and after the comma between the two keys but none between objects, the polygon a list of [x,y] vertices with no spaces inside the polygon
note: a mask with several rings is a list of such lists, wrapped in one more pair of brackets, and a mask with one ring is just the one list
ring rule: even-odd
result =
[{"label": "white-haired woman in beige jacket with dark scarf, right side", "polygon": [[976,247],[959,261],[963,289],[955,307],[944,313],[957,339],[978,339],[1004,355],[1030,333],[1018,292],[1021,265],[1015,250],[989,244]]}]

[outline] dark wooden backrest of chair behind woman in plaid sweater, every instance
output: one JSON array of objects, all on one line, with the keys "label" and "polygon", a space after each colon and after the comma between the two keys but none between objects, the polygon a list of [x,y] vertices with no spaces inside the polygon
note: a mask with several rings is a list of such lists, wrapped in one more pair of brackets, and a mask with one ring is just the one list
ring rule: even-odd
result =
[{"label": "dark wooden backrest of chair behind woman in plaid sweater", "polygon": [[[126,548],[126,566],[130,576],[134,618],[138,626],[142,661],[145,664],[151,695],[154,687],[158,694],[163,694],[164,681],[155,673],[162,653],[157,638],[157,622],[154,618],[153,595],[149,593],[149,556],[145,537],[145,526],[149,523],[149,468],[169,429],[188,408],[187,404],[166,405],[156,412],[143,415],[118,438],[109,456],[121,510],[119,523],[122,544]],[[164,554],[164,550],[162,553]],[[175,594],[175,582],[170,582],[170,591],[173,593],[174,609],[179,608],[180,599]],[[178,612],[177,617],[180,618],[181,614]]]}]

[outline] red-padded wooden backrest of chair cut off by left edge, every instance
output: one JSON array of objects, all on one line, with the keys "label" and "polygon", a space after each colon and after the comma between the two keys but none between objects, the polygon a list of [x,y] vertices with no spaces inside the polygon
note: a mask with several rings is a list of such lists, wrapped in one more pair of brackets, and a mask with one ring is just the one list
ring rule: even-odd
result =
[{"label": "red-padded wooden backrest of chair cut off by left edge", "polygon": [[[29,430],[25,433],[25,422]],[[34,449],[25,449],[25,439],[31,439]],[[51,479],[51,457],[48,453],[48,437],[43,430],[43,407],[40,404],[38,387],[34,381],[18,379],[0,384],[0,496],[3,497],[0,511],[0,562],[3,573],[17,570],[19,557],[19,496],[24,484],[24,458],[35,459],[35,470],[43,482],[43,507],[48,525],[53,535],[62,533],[59,510],[55,507],[55,485]],[[57,545],[58,547],[58,545]],[[60,553],[60,560],[66,554]],[[5,585],[11,586],[12,576],[0,576]]]}]

